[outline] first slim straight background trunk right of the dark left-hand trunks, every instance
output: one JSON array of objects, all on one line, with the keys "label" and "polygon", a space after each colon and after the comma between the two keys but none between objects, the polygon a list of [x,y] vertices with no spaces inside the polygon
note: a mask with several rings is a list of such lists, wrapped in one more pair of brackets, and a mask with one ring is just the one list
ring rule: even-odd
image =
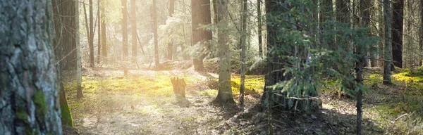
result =
[{"label": "first slim straight background trunk right of the dark left-hand trunks", "polygon": [[90,37],[88,38],[88,46],[90,48],[90,66],[94,67],[94,11],[92,10],[92,0],[89,2],[90,4]]}]

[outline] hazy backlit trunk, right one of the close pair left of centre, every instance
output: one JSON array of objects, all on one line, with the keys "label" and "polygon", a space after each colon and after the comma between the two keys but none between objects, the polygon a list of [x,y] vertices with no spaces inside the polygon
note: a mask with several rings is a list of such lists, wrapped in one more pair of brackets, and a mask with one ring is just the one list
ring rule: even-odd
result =
[{"label": "hazy backlit trunk, right one of the close pair left of centre", "polygon": [[137,62],[137,4],[135,3],[135,0],[130,0],[130,28],[132,34],[131,41],[133,61]]}]

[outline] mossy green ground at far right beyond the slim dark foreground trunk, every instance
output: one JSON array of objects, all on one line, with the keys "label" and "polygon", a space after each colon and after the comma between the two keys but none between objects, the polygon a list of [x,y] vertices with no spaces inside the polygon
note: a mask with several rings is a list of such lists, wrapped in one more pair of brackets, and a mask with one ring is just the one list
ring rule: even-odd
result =
[{"label": "mossy green ground at far right beyond the slim dark foreground trunk", "polygon": [[[393,85],[382,84],[383,75],[380,68],[367,70],[364,84],[369,91],[364,94],[364,120],[378,125],[387,134],[423,134],[423,74],[418,70],[398,68],[393,72]],[[326,94],[337,91],[334,82],[327,81]],[[334,96],[331,96],[334,98]],[[354,108],[355,99],[343,99],[345,103],[332,104],[332,108],[341,108],[340,105],[349,104]],[[353,112],[355,113],[355,112]],[[406,117],[400,117],[401,115]],[[400,119],[396,120],[398,117]]]}]

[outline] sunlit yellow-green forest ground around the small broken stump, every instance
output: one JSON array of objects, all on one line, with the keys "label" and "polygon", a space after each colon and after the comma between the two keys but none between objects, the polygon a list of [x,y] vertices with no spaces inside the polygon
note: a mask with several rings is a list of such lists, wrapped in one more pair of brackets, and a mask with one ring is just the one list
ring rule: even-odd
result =
[{"label": "sunlit yellow-green forest ground around the small broken stump", "polygon": [[[210,104],[217,94],[205,82],[212,73],[190,70],[86,71],[82,77],[84,98],[76,99],[75,82],[68,79],[66,95],[75,128],[81,134],[212,134],[214,127],[233,114]],[[183,77],[190,103],[176,103],[171,77]],[[238,100],[239,77],[233,76],[233,94]],[[248,76],[246,104],[257,103],[264,79]]]}]

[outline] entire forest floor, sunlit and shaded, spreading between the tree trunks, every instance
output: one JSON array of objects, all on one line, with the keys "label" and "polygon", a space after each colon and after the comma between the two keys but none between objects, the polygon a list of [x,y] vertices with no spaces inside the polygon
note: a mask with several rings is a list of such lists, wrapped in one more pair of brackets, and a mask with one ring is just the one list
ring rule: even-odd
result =
[{"label": "entire forest floor, sunlit and shaded, spreading between the tree trunks", "polygon": [[[394,85],[381,84],[381,70],[371,69],[365,84],[364,134],[423,134],[423,75],[393,75]],[[267,134],[267,115],[254,108],[264,86],[261,75],[247,76],[245,110],[218,107],[214,73],[185,70],[85,69],[84,98],[77,99],[72,72],[65,72],[65,89],[78,134]],[[171,77],[183,77],[189,103],[177,103]],[[232,75],[238,102],[239,75]],[[354,98],[338,98],[325,85],[322,108],[313,114],[274,116],[274,134],[355,134]],[[403,117],[400,117],[403,116]],[[413,132],[414,131],[414,132]]]}]

